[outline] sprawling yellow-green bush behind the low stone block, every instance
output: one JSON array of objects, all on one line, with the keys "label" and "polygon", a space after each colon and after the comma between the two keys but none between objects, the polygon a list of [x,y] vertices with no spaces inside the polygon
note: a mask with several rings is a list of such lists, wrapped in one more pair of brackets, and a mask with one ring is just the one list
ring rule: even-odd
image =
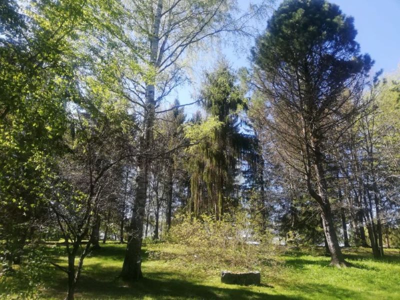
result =
[{"label": "sprawling yellow-green bush behind the low stone block", "polygon": [[254,270],[274,250],[270,234],[260,234],[245,212],[215,220],[208,215],[175,218],[168,241],[184,246],[182,259],[206,268]]}]

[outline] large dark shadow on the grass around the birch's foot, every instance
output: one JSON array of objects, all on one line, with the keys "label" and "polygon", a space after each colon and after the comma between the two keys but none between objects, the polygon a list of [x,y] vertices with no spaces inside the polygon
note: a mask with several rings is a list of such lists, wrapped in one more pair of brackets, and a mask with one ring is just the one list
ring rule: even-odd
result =
[{"label": "large dark shadow on the grass around the birch's foot", "polygon": [[[145,272],[145,277],[134,283],[126,283],[117,278],[119,269],[91,265],[82,273],[75,295],[83,299],[296,299],[285,295],[272,295],[251,290],[249,287],[210,286],[201,281],[189,281],[174,272]],[[62,297],[66,291],[66,277],[56,276],[47,296]],[[224,284],[225,285],[225,284]],[[273,288],[261,284],[260,288]]]}]

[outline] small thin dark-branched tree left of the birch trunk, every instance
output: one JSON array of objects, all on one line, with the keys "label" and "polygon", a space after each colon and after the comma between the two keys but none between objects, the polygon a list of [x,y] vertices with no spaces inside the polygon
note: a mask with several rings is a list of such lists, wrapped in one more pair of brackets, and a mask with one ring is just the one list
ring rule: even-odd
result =
[{"label": "small thin dark-branched tree left of the birch trunk", "polygon": [[[126,125],[130,120],[125,109],[118,112],[104,103],[96,109],[92,105],[90,101],[85,109],[76,106],[71,112],[73,130],[65,137],[69,153],[59,159],[52,187],[55,193],[49,198],[68,257],[66,267],[53,265],[68,275],[68,300],[74,297],[84,258],[98,242],[98,215],[109,197],[121,190],[121,186],[115,184],[116,180],[121,180],[118,166],[131,156],[126,142],[128,134],[120,128],[121,123]],[[87,237],[88,241],[82,246]],[[76,256],[79,256],[77,264]]]}]

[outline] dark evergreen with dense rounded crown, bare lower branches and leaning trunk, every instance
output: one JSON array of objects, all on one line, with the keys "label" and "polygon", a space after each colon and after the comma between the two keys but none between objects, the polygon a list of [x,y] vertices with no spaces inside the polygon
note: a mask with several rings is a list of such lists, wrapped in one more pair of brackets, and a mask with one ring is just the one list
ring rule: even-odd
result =
[{"label": "dark evergreen with dense rounded crown, bare lower branches and leaning trunk", "polygon": [[[281,157],[317,203],[331,264],[344,265],[328,194],[329,151],[358,113],[372,61],[359,53],[353,19],[325,0],[285,0],[252,50],[266,122]],[[351,105],[350,105],[351,104]]]}]

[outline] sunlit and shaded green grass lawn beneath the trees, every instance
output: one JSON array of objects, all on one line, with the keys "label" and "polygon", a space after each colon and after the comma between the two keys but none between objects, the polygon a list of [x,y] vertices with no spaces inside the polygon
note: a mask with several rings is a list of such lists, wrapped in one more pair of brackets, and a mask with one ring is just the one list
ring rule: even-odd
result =
[{"label": "sunlit and shaded green grass lawn beneath the trees", "polygon": [[[117,278],[125,245],[107,243],[86,258],[76,298],[82,299],[400,299],[400,253],[386,250],[383,259],[370,249],[345,249],[352,267],[328,266],[329,257],[290,251],[263,266],[260,286],[220,282],[219,268],[185,265],[184,249],[166,243],[148,244],[144,251],[163,251],[161,259],[145,256],[144,278],[126,284]],[[52,251],[55,251],[54,249]],[[55,252],[54,252],[55,253]],[[147,252],[148,253],[148,252]],[[157,257],[157,256],[155,256]],[[55,257],[59,263],[65,258]],[[62,299],[65,274],[47,266],[42,298]]]}]

